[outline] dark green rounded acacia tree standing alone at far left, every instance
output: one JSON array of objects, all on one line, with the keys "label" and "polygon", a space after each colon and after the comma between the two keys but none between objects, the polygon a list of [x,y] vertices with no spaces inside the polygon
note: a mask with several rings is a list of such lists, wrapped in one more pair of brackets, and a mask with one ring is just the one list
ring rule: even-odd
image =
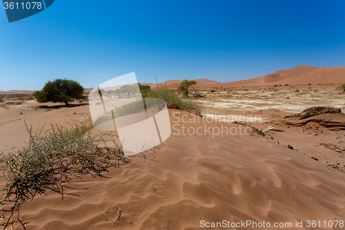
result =
[{"label": "dark green rounded acacia tree standing alone at far left", "polygon": [[41,91],[34,92],[37,102],[63,102],[68,106],[73,99],[84,99],[84,88],[78,82],[68,79],[55,79],[46,82]]}]

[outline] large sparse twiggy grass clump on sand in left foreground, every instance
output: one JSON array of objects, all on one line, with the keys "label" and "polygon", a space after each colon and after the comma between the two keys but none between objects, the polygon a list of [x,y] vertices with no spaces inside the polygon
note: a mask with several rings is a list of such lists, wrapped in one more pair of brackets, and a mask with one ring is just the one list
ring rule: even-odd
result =
[{"label": "large sparse twiggy grass clump on sand in left foreground", "polygon": [[[81,175],[105,177],[112,166],[130,164],[121,148],[117,147],[115,136],[110,133],[92,135],[90,121],[70,124],[70,126],[51,125],[43,131],[32,131],[27,146],[8,155],[1,154],[0,166],[6,185],[0,191],[3,209],[0,214],[5,229],[16,222],[25,228],[20,218],[21,205],[32,200],[37,194],[54,191],[62,195],[71,194],[66,191],[78,189],[69,184],[81,182]],[[107,146],[109,142],[114,148]],[[86,189],[86,188],[84,188]]]}]

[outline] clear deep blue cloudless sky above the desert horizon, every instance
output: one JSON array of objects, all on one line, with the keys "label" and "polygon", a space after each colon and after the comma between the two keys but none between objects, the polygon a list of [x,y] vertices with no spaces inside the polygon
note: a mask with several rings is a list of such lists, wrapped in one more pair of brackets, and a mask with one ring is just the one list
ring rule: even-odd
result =
[{"label": "clear deep blue cloudless sky above the desert horizon", "polygon": [[67,1],[8,23],[0,9],[0,90],[48,80],[90,88],[259,77],[306,64],[345,66],[345,1]]}]

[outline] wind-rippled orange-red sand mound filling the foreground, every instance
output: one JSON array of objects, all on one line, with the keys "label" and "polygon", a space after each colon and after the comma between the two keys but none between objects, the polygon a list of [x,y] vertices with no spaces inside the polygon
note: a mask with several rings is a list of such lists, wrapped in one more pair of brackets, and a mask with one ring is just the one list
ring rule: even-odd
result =
[{"label": "wind-rippled orange-red sand mound filling the foreground", "polygon": [[[63,108],[50,113],[50,118],[80,110]],[[172,124],[180,127],[221,128],[202,119],[178,122],[173,112]],[[190,119],[190,113],[180,115]],[[84,177],[90,181],[75,185],[88,189],[73,191],[79,196],[65,195],[61,200],[48,193],[25,203],[21,215],[29,222],[27,229],[192,230],[201,229],[201,220],[292,224],[302,220],[308,229],[306,220],[345,219],[345,174],[273,140],[239,133],[215,138],[208,133],[180,133],[164,144],[155,153],[144,153],[155,161],[138,154],[132,157],[136,167],[112,169],[108,179]],[[120,220],[115,208],[121,209]]]}]

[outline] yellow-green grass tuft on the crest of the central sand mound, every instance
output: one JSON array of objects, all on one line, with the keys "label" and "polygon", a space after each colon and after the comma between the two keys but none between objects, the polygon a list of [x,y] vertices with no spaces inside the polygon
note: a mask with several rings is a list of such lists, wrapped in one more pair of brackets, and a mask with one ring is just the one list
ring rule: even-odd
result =
[{"label": "yellow-green grass tuft on the crest of the central sand mound", "polygon": [[201,113],[202,107],[193,101],[193,99],[186,99],[180,97],[175,90],[172,90],[166,86],[157,86],[154,90],[146,95],[146,98],[159,98],[164,99],[166,102],[174,102],[181,109],[193,110]]}]

